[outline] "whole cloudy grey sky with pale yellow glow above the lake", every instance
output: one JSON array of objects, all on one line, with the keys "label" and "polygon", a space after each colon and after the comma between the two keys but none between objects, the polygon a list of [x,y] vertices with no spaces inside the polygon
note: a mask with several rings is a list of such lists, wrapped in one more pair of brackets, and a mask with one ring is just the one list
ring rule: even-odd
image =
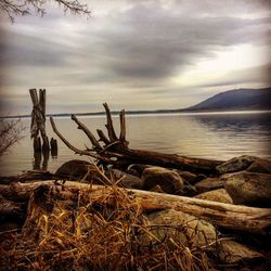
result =
[{"label": "whole cloudy grey sky with pale yellow glow above the lake", "polygon": [[165,109],[218,92],[270,87],[271,5],[264,0],[81,0],[91,17],[52,2],[43,17],[0,18],[0,114]]}]

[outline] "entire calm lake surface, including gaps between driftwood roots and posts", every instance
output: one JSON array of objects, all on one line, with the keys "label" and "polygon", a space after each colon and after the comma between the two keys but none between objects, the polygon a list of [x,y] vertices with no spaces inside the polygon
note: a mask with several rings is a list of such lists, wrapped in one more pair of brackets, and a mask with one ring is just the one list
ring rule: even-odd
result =
[{"label": "entire calm lake surface, including gaps between driftwood roots and posts", "polygon": [[[93,132],[103,129],[105,117],[79,117]],[[113,118],[118,131],[118,119]],[[23,119],[25,138],[13,150],[0,157],[0,175],[16,175],[31,170],[35,165],[29,136],[30,119]],[[56,126],[70,143],[79,149],[89,141],[69,118],[55,118]],[[47,124],[49,137],[56,137]],[[271,113],[209,113],[209,114],[165,114],[127,116],[127,139],[130,147],[164,153],[229,159],[243,154],[271,158]],[[49,157],[48,168],[54,171],[69,159],[80,157],[59,140],[57,158]],[[39,164],[39,163],[38,163]],[[42,160],[40,167],[42,168]]]}]

